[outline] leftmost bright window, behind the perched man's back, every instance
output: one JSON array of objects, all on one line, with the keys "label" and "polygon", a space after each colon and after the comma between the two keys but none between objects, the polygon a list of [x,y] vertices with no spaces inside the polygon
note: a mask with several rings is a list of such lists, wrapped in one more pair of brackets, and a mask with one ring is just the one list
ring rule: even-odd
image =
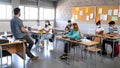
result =
[{"label": "leftmost bright window, behind the perched man's back", "polygon": [[12,6],[0,4],[0,19],[7,20],[12,18]]}]

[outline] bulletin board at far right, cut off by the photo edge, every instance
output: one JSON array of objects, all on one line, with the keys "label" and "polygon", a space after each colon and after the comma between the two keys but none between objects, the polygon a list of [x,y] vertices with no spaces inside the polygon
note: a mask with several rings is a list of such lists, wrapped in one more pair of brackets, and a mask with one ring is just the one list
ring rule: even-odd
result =
[{"label": "bulletin board at far right, cut off by the photo edge", "polygon": [[96,22],[101,20],[102,23],[108,23],[109,21],[115,21],[120,24],[120,6],[97,6],[96,7]]}]

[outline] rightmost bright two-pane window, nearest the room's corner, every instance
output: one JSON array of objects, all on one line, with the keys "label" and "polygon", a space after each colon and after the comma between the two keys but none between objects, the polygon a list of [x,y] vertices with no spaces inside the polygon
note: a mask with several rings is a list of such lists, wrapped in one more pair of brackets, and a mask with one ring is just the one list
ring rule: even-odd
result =
[{"label": "rightmost bright two-pane window, nearest the room's corner", "polygon": [[40,8],[39,9],[39,19],[40,20],[53,20],[54,19],[54,9]]}]

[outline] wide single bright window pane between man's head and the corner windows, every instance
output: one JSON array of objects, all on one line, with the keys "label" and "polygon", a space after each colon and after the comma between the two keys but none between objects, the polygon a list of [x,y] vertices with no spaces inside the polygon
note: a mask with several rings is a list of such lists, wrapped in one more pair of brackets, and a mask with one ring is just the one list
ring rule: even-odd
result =
[{"label": "wide single bright window pane between man's head and the corner windows", "polygon": [[26,20],[37,20],[38,19],[38,8],[25,7],[25,19]]}]

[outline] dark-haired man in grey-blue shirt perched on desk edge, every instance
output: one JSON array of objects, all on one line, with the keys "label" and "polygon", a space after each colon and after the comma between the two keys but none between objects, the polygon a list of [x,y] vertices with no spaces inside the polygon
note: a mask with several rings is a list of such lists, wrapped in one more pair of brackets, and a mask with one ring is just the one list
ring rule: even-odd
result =
[{"label": "dark-haired man in grey-blue shirt perched on desk edge", "polygon": [[14,17],[10,20],[10,27],[13,36],[15,39],[25,39],[26,42],[29,44],[29,46],[26,45],[26,53],[28,57],[32,59],[32,61],[37,60],[38,57],[34,56],[30,50],[33,46],[33,41],[30,39],[30,37],[27,35],[26,27],[23,25],[23,21],[19,19],[20,17],[20,9],[15,8],[14,9]]}]

